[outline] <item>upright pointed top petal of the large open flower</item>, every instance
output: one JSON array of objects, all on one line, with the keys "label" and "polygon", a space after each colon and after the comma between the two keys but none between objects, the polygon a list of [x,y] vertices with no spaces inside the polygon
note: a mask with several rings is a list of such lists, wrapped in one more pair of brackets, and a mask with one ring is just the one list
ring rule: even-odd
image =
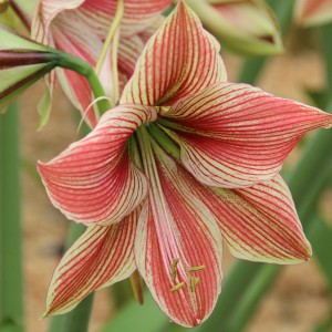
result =
[{"label": "upright pointed top petal of the large open flower", "polygon": [[220,45],[180,1],[149,39],[121,103],[172,104],[215,82],[226,81]]}]

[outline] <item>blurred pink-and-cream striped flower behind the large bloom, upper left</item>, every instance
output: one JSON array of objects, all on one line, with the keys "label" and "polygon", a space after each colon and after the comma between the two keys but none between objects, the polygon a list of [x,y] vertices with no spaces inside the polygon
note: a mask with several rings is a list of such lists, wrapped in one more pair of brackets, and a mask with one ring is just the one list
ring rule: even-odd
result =
[{"label": "blurred pink-and-cream striped flower behind the large bloom, upper left", "polygon": [[[116,0],[41,0],[34,11],[32,38],[79,56],[95,66],[116,14]],[[117,66],[125,79],[132,75],[135,62],[144,46],[139,33],[158,20],[160,12],[170,3],[172,0],[124,0]],[[106,77],[108,77],[105,90],[110,93],[113,90],[111,56],[110,51],[105,59]],[[69,70],[60,70],[59,79],[71,102],[76,108],[85,112],[92,102],[87,81]],[[91,125],[95,125],[93,110],[87,113],[86,118]]]}]

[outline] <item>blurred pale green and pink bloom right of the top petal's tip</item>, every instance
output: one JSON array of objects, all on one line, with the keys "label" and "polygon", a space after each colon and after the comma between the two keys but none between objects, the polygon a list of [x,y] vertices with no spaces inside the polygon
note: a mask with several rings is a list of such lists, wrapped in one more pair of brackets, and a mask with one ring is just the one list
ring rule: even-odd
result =
[{"label": "blurred pale green and pink bloom right of the top petal's tip", "polygon": [[276,54],[282,51],[273,11],[260,0],[190,0],[206,27],[230,50],[241,54]]}]

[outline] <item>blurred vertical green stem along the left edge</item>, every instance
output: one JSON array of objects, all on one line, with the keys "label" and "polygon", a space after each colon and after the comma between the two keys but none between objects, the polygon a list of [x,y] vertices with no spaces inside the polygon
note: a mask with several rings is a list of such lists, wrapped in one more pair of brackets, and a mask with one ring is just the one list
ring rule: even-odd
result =
[{"label": "blurred vertical green stem along the left edge", "polygon": [[23,331],[18,104],[0,117],[0,330]]}]

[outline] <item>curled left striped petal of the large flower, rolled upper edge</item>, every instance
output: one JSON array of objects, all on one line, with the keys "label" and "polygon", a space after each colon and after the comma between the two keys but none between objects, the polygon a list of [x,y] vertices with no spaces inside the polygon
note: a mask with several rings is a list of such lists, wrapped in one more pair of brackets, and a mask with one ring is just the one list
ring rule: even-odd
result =
[{"label": "curled left striped petal of the large flower, rolled upper edge", "polygon": [[154,110],[117,106],[95,129],[70,145],[39,170],[50,199],[69,219],[85,225],[117,222],[138,206],[147,191],[145,176],[131,162],[126,141]]}]

